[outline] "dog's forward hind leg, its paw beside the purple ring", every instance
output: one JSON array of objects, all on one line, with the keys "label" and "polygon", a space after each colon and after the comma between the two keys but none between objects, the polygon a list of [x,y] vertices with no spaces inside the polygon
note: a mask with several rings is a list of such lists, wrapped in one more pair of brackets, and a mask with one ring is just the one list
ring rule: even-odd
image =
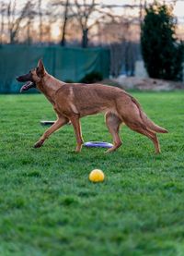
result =
[{"label": "dog's forward hind leg, its paw beside the purple ring", "polygon": [[112,135],[113,138],[113,147],[110,148],[107,152],[113,152],[117,150],[122,142],[119,135],[119,130],[121,126],[121,119],[116,116],[115,114],[108,112],[106,114],[106,125],[109,128],[109,133]]}]

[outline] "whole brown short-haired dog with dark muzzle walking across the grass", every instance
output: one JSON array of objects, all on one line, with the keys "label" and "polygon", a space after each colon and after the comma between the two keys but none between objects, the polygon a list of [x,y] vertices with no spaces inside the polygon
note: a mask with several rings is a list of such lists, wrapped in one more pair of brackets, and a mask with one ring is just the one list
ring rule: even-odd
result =
[{"label": "whole brown short-haired dog with dark muzzle walking across the grass", "polygon": [[34,145],[35,148],[42,146],[54,131],[71,121],[77,142],[75,151],[80,152],[83,138],[79,119],[83,116],[105,112],[106,124],[113,137],[113,147],[108,152],[115,151],[121,146],[119,129],[123,123],[132,130],[147,136],[154,142],[155,152],[160,152],[156,132],[167,133],[167,130],[156,126],[144,114],[140,104],[126,91],[102,84],[65,83],[49,75],[41,60],[38,67],[29,71],[29,74],[18,77],[17,80],[28,81],[21,91],[36,87],[43,92],[58,116],[57,121]]}]

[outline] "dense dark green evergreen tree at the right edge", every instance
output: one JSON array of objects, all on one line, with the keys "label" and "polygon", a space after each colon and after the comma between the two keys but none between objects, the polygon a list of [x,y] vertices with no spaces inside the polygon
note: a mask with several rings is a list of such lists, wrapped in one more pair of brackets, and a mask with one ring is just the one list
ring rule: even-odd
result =
[{"label": "dense dark green evergreen tree at the right edge", "polygon": [[172,7],[155,2],[145,8],[141,28],[144,66],[151,78],[182,79],[184,45],[176,37]]}]

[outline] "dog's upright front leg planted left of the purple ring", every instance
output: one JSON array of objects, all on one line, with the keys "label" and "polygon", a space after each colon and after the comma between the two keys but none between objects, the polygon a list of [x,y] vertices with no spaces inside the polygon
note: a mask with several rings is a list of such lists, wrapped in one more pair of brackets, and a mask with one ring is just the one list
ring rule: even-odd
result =
[{"label": "dog's upright front leg planted left of the purple ring", "polygon": [[80,126],[80,121],[78,116],[72,116],[70,118],[73,127],[75,129],[75,136],[76,136],[76,149],[75,152],[80,152],[82,149],[82,145],[84,143],[83,138],[82,138],[82,132],[81,132],[81,126]]}]

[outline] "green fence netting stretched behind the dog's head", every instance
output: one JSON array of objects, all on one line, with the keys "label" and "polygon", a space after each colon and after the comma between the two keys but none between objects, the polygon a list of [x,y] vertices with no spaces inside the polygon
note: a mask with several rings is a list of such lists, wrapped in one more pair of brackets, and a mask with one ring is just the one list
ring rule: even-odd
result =
[{"label": "green fence netting stretched behind the dog's head", "polygon": [[63,81],[79,81],[97,71],[109,77],[109,50],[59,46],[4,45],[0,47],[0,93],[18,92],[18,75],[28,73],[42,59],[47,71]]}]

